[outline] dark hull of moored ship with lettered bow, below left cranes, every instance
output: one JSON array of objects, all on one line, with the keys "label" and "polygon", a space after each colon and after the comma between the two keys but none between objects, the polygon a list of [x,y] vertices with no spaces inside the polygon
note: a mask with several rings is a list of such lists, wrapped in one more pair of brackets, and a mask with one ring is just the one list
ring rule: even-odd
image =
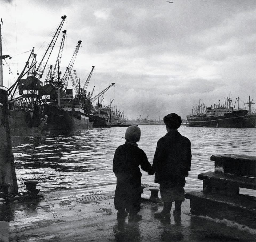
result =
[{"label": "dark hull of moored ship with lettered bow, below left cranes", "polygon": [[89,115],[64,111],[53,105],[45,104],[43,114],[48,116],[47,125],[44,129],[46,132],[66,132],[93,127],[93,123],[89,121]]}]

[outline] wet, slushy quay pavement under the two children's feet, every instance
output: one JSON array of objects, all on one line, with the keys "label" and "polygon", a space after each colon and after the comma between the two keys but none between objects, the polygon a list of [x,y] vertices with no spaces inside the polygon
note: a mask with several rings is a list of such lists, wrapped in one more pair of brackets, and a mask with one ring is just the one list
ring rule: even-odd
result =
[{"label": "wet, slushy quay pavement under the two children's feet", "polygon": [[[144,188],[145,197],[150,188]],[[163,203],[147,200],[141,203],[141,221],[117,220],[114,190],[115,184],[106,184],[39,193],[43,197],[36,200],[1,202],[0,241],[256,240],[256,230],[245,225],[191,216],[187,199],[182,203],[181,224],[175,224],[173,215],[170,224],[155,219]]]}]

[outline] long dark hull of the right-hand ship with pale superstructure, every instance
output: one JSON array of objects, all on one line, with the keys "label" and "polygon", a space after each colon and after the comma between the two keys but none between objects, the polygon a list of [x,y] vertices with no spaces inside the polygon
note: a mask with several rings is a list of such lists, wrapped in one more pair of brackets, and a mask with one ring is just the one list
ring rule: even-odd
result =
[{"label": "long dark hull of the right-hand ship with pale superstructure", "polygon": [[189,126],[219,128],[250,128],[245,120],[247,110],[237,110],[217,117],[187,117]]}]

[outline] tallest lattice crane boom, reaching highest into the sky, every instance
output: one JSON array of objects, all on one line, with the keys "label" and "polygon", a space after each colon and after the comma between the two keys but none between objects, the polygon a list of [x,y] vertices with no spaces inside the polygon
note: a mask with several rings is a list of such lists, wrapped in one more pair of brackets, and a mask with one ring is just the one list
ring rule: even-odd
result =
[{"label": "tallest lattice crane boom, reaching highest into the sky", "polygon": [[[46,64],[47,64],[47,62],[49,60],[50,54],[51,54],[51,52],[53,50],[53,47],[54,47],[54,45],[56,43],[56,40],[57,40],[57,38],[59,36],[59,33],[61,31],[61,28],[63,26],[63,23],[64,23],[66,17],[67,17],[66,15],[61,17],[62,20],[61,20],[59,26],[57,27],[57,29],[56,29],[56,31],[55,31],[55,33],[53,35],[53,38],[52,38],[50,44],[48,45],[48,47],[47,47],[47,49],[45,51],[45,54],[43,55],[43,58],[42,58],[41,62],[37,66],[37,69],[36,69],[36,72],[35,72],[35,77],[37,77],[38,79],[43,76],[43,72],[45,70]],[[46,61],[43,62],[44,60],[46,60]]]}]

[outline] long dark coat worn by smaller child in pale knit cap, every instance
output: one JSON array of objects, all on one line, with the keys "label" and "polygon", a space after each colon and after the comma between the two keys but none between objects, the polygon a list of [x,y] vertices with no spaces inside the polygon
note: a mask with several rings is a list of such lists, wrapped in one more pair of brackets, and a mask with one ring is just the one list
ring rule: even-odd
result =
[{"label": "long dark coat worn by smaller child in pale knit cap", "polygon": [[[117,177],[115,209],[137,213],[141,207],[141,169],[153,172],[143,150],[135,145],[123,144],[115,150],[113,172]],[[154,174],[154,172],[153,172]]]}]

